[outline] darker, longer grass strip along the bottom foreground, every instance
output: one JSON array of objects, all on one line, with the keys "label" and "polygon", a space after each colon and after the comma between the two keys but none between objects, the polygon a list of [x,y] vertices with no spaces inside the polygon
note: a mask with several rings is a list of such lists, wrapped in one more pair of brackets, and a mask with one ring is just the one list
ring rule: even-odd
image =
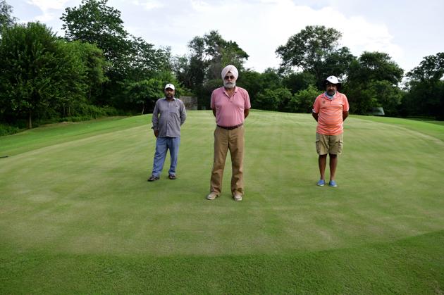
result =
[{"label": "darker, longer grass strip along the bottom foreground", "polygon": [[444,231],[391,243],[290,255],[103,256],[2,248],[0,292],[441,294],[443,244]]}]

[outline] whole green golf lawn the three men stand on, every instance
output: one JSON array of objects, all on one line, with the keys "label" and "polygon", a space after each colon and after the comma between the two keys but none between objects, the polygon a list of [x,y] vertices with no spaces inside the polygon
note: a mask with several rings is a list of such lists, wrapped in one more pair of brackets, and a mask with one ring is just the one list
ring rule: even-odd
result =
[{"label": "whole green golf lawn the three men stand on", "polygon": [[313,118],[252,111],[244,200],[228,159],[206,201],[214,117],[188,116],[175,181],[146,181],[151,115],[0,137],[0,293],[443,293],[443,125],[352,115],[316,187]]}]

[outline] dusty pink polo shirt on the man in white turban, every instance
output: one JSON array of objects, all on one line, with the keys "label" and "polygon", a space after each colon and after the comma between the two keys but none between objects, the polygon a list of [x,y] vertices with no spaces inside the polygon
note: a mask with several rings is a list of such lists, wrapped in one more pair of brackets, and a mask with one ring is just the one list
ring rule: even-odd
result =
[{"label": "dusty pink polo shirt on the man in white turban", "polygon": [[225,87],[214,89],[211,108],[216,110],[216,124],[223,127],[240,125],[245,120],[244,111],[251,108],[247,90],[235,87],[233,96],[228,96]]}]

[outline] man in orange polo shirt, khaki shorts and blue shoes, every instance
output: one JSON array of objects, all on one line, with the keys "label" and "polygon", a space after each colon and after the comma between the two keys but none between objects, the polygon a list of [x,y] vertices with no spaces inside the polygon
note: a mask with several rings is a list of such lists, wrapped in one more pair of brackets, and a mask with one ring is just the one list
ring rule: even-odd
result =
[{"label": "man in orange polo shirt, khaki shorts and blue shoes", "polygon": [[338,92],[340,80],[330,76],[324,81],[326,92],[316,97],[313,104],[313,117],[318,122],[316,127],[316,151],[319,154],[319,172],[321,179],[317,183],[320,187],[325,184],[327,153],[330,156],[331,187],[337,187],[335,181],[338,155],[343,151],[343,123],[348,117],[347,96]]}]

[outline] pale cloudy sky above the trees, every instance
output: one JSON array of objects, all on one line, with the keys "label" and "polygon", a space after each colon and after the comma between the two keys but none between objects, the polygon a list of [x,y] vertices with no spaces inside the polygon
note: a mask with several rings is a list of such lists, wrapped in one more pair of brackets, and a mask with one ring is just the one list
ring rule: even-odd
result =
[{"label": "pale cloudy sky above the trees", "polygon": [[[40,21],[63,36],[65,8],[81,0],[6,0],[20,23]],[[333,27],[343,34],[340,46],[354,56],[380,51],[407,73],[424,56],[444,51],[443,0],[108,0],[121,11],[125,30],[173,55],[188,54],[196,36],[217,30],[238,43],[247,68],[262,73],[278,68],[276,49],[307,25]]]}]

